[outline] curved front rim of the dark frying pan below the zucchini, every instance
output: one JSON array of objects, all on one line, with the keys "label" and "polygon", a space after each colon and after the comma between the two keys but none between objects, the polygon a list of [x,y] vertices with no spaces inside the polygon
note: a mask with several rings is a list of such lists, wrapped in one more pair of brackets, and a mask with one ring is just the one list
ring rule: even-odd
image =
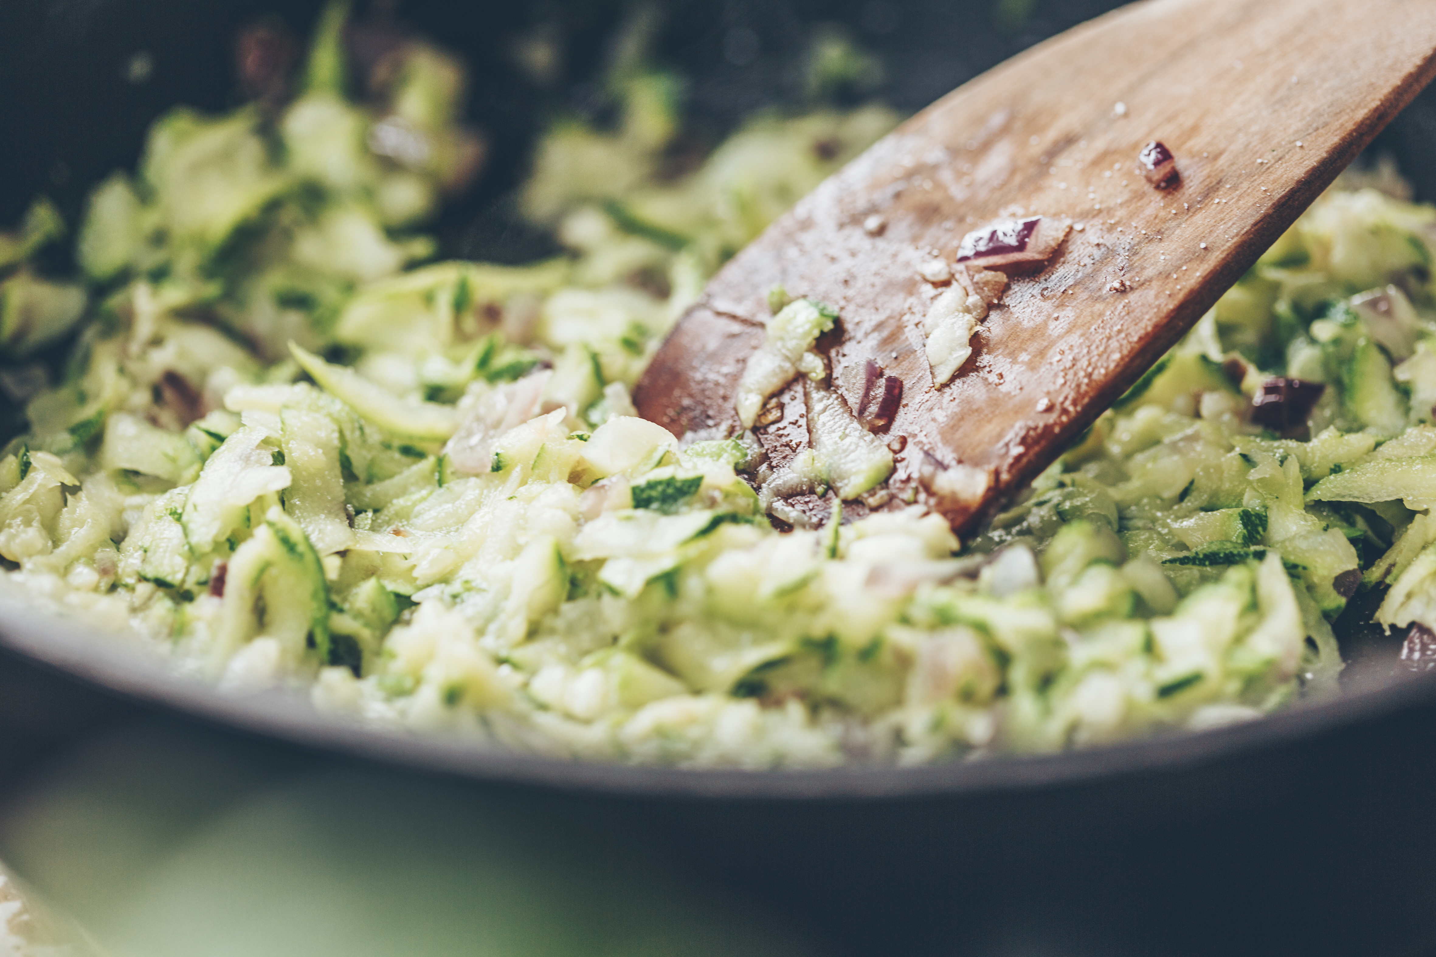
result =
[{"label": "curved front rim of the dark frying pan below the zucchini", "polygon": [[844,803],[1054,791],[1199,768],[1317,739],[1436,702],[1436,671],[1432,671],[1380,687],[1343,690],[1239,725],[1173,730],[1048,755],[912,768],[849,765],[744,770],[561,759],[487,745],[472,735],[395,732],[325,715],[296,690],[230,694],[174,673],[162,659],[136,647],[131,636],[106,633],[3,590],[0,651],[159,712],[303,749],[493,785],[699,802]]}]

